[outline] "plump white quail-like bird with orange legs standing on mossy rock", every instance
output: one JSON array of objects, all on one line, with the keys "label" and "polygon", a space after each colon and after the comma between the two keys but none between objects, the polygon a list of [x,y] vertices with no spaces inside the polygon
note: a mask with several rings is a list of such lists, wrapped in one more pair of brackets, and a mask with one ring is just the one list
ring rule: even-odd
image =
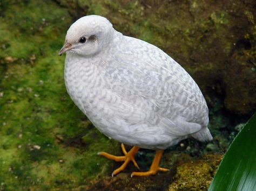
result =
[{"label": "plump white quail-like bird with orange legs standing on mossy rock", "polygon": [[[161,156],[183,139],[213,139],[197,83],[160,48],[123,35],[105,17],[89,15],[70,26],[59,55],[64,52],[71,100],[100,132],[122,143],[123,156],[98,153],[123,161],[112,176],[130,161],[139,168],[134,159],[139,148],[155,150],[156,155],[149,171],[131,176],[169,171],[159,167]],[[127,152],[124,144],[133,147]]]}]

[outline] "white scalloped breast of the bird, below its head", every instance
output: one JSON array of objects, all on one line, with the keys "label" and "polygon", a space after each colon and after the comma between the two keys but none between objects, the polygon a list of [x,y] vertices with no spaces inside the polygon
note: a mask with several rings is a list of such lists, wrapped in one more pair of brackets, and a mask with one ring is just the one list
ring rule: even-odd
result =
[{"label": "white scalloped breast of the bird, below its head", "polygon": [[[107,118],[114,115],[113,108],[122,106],[122,100],[111,93],[111,84],[99,72],[97,63],[68,57],[64,73],[66,89],[73,102],[98,129],[106,129]],[[131,113],[131,109],[123,112]]]}]

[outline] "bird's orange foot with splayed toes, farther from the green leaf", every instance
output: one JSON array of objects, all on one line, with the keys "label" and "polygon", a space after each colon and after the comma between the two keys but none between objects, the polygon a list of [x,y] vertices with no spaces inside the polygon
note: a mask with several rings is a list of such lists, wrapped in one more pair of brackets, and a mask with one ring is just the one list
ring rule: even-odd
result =
[{"label": "bird's orange foot with splayed toes, farther from the green leaf", "polygon": [[139,166],[137,162],[134,159],[134,155],[138,152],[139,147],[133,146],[129,152],[126,152],[124,144],[121,144],[122,151],[124,153],[124,156],[115,156],[106,152],[99,152],[99,155],[102,155],[108,159],[115,160],[115,161],[124,161],[123,165],[121,165],[119,168],[115,169],[112,173],[112,176],[118,174],[119,172],[123,171],[127,164],[132,161],[134,166],[136,166],[139,169]]}]

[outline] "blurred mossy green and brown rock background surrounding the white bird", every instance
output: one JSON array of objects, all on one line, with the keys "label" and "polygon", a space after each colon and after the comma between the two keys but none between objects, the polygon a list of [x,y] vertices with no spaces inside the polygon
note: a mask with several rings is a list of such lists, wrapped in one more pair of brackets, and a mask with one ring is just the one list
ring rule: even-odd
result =
[{"label": "blurred mossy green and brown rock background surrounding the white bird", "polygon": [[[198,83],[210,109],[211,143],[165,151],[169,173],[111,178],[120,144],[87,121],[66,93],[66,31],[101,15],[127,36],[163,49]],[[0,190],[207,190],[228,145],[256,111],[256,2],[0,1]],[[129,147],[127,146],[127,149]],[[143,171],[154,151],[136,156]]]}]

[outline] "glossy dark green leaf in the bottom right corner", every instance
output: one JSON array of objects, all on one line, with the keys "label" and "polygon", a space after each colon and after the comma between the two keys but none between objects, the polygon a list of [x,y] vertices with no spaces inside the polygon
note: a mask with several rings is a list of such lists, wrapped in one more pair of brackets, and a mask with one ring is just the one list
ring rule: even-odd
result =
[{"label": "glossy dark green leaf in the bottom right corner", "polygon": [[256,114],[235,137],[208,191],[256,190]]}]

